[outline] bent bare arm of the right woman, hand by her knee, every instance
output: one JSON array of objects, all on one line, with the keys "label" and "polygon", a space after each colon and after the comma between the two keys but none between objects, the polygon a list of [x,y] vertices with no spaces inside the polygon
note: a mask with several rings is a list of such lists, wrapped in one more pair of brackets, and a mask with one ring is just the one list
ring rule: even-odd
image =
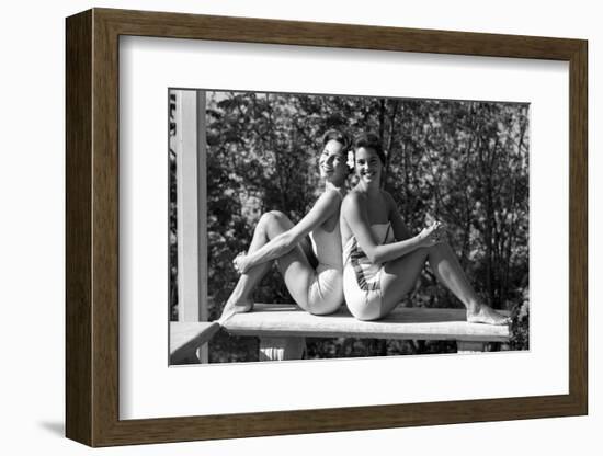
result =
[{"label": "bent bare arm of the right woman, hand by her knee", "polygon": [[[423,229],[414,237],[383,246],[378,244],[371,231],[366,200],[357,192],[352,192],[343,200],[341,212],[348,226],[359,241],[361,249],[373,263],[385,263],[403,256],[421,247],[429,247],[437,243],[433,236],[437,230],[437,226],[433,225],[430,228]],[[400,230],[400,227],[398,226],[397,229]],[[396,233],[396,236],[398,236],[398,233]]]}]

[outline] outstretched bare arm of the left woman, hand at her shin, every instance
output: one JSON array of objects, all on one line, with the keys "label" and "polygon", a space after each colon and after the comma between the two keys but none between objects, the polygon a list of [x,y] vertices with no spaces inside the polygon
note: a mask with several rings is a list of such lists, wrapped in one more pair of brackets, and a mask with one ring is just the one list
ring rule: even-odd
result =
[{"label": "outstretched bare arm of the left woman, hand at her shin", "polygon": [[297,225],[271,239],[253,253],[239,258],[237,260],[239,271],[244,273],[258,264],[275,260],[288,253],[306,235],[335,214],[340,204],[341,196],[337,191],[325,192]]}]

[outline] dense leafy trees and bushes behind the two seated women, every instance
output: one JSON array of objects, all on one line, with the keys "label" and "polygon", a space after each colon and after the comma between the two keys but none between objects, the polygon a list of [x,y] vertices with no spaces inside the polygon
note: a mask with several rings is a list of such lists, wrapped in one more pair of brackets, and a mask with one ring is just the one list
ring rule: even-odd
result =
[{"label": "dense leafy trees and bushes behind the two seated women", "polygon": [[[362,130],[376,133],[387,152],[384,186],[407,225],[417,232],[434,218],[443,221],[451,246],[485,301],[498,309],[523,306],[527,315],[526,104],[252,92],[206,95],[212,319],[219,316],[236,284],[238,274],[231,261],[248,248],[261,214],[280,209],[296,221],[314,204],[320,191],[319,138],[333,127],[351,136]],[[171,229],[172,225],[175,233],[175,217],[173,224],[170,217]],[[293,301],[274,267],[254,298]],[[177,296],[171,305],[175,307]],[[429,267],[403,305],[462,307],[436,284]],[[527,346],[524,320],[522,335],[511,344],[514,350]],[[226,342],[220,339],[223,343],[216,342],[212,350],[223,351]],[[308,356],[447,350],[445,343],[314,340]],[[235,357],[240,358],[224,353],[215,361]]]}]

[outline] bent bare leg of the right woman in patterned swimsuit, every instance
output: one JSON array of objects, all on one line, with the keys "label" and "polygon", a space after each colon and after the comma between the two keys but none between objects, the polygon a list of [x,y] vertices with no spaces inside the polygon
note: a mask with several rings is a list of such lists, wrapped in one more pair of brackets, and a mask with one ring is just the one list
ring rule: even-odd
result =
[{"label": "bent bare leg of the right woman in patterned swimsuit", "polygon": [[465,305],[467,321],[488,324],[508,322],[507,317],[480,303],[456,255],[446,242],[418,249],[385,265],[382,277],[384,296],[382,317],[389,314],[412,289],[425,261],[429,261],[437,280]]}]

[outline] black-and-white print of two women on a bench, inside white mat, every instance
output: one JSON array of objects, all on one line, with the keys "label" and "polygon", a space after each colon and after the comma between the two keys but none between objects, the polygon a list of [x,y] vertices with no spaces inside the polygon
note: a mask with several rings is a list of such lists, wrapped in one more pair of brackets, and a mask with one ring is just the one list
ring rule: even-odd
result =
[{"label": "black-and-white print of two women on a bench, inside white mat", "polygon": [[530,350],[528,103],[168,110],[171,365]]}]

